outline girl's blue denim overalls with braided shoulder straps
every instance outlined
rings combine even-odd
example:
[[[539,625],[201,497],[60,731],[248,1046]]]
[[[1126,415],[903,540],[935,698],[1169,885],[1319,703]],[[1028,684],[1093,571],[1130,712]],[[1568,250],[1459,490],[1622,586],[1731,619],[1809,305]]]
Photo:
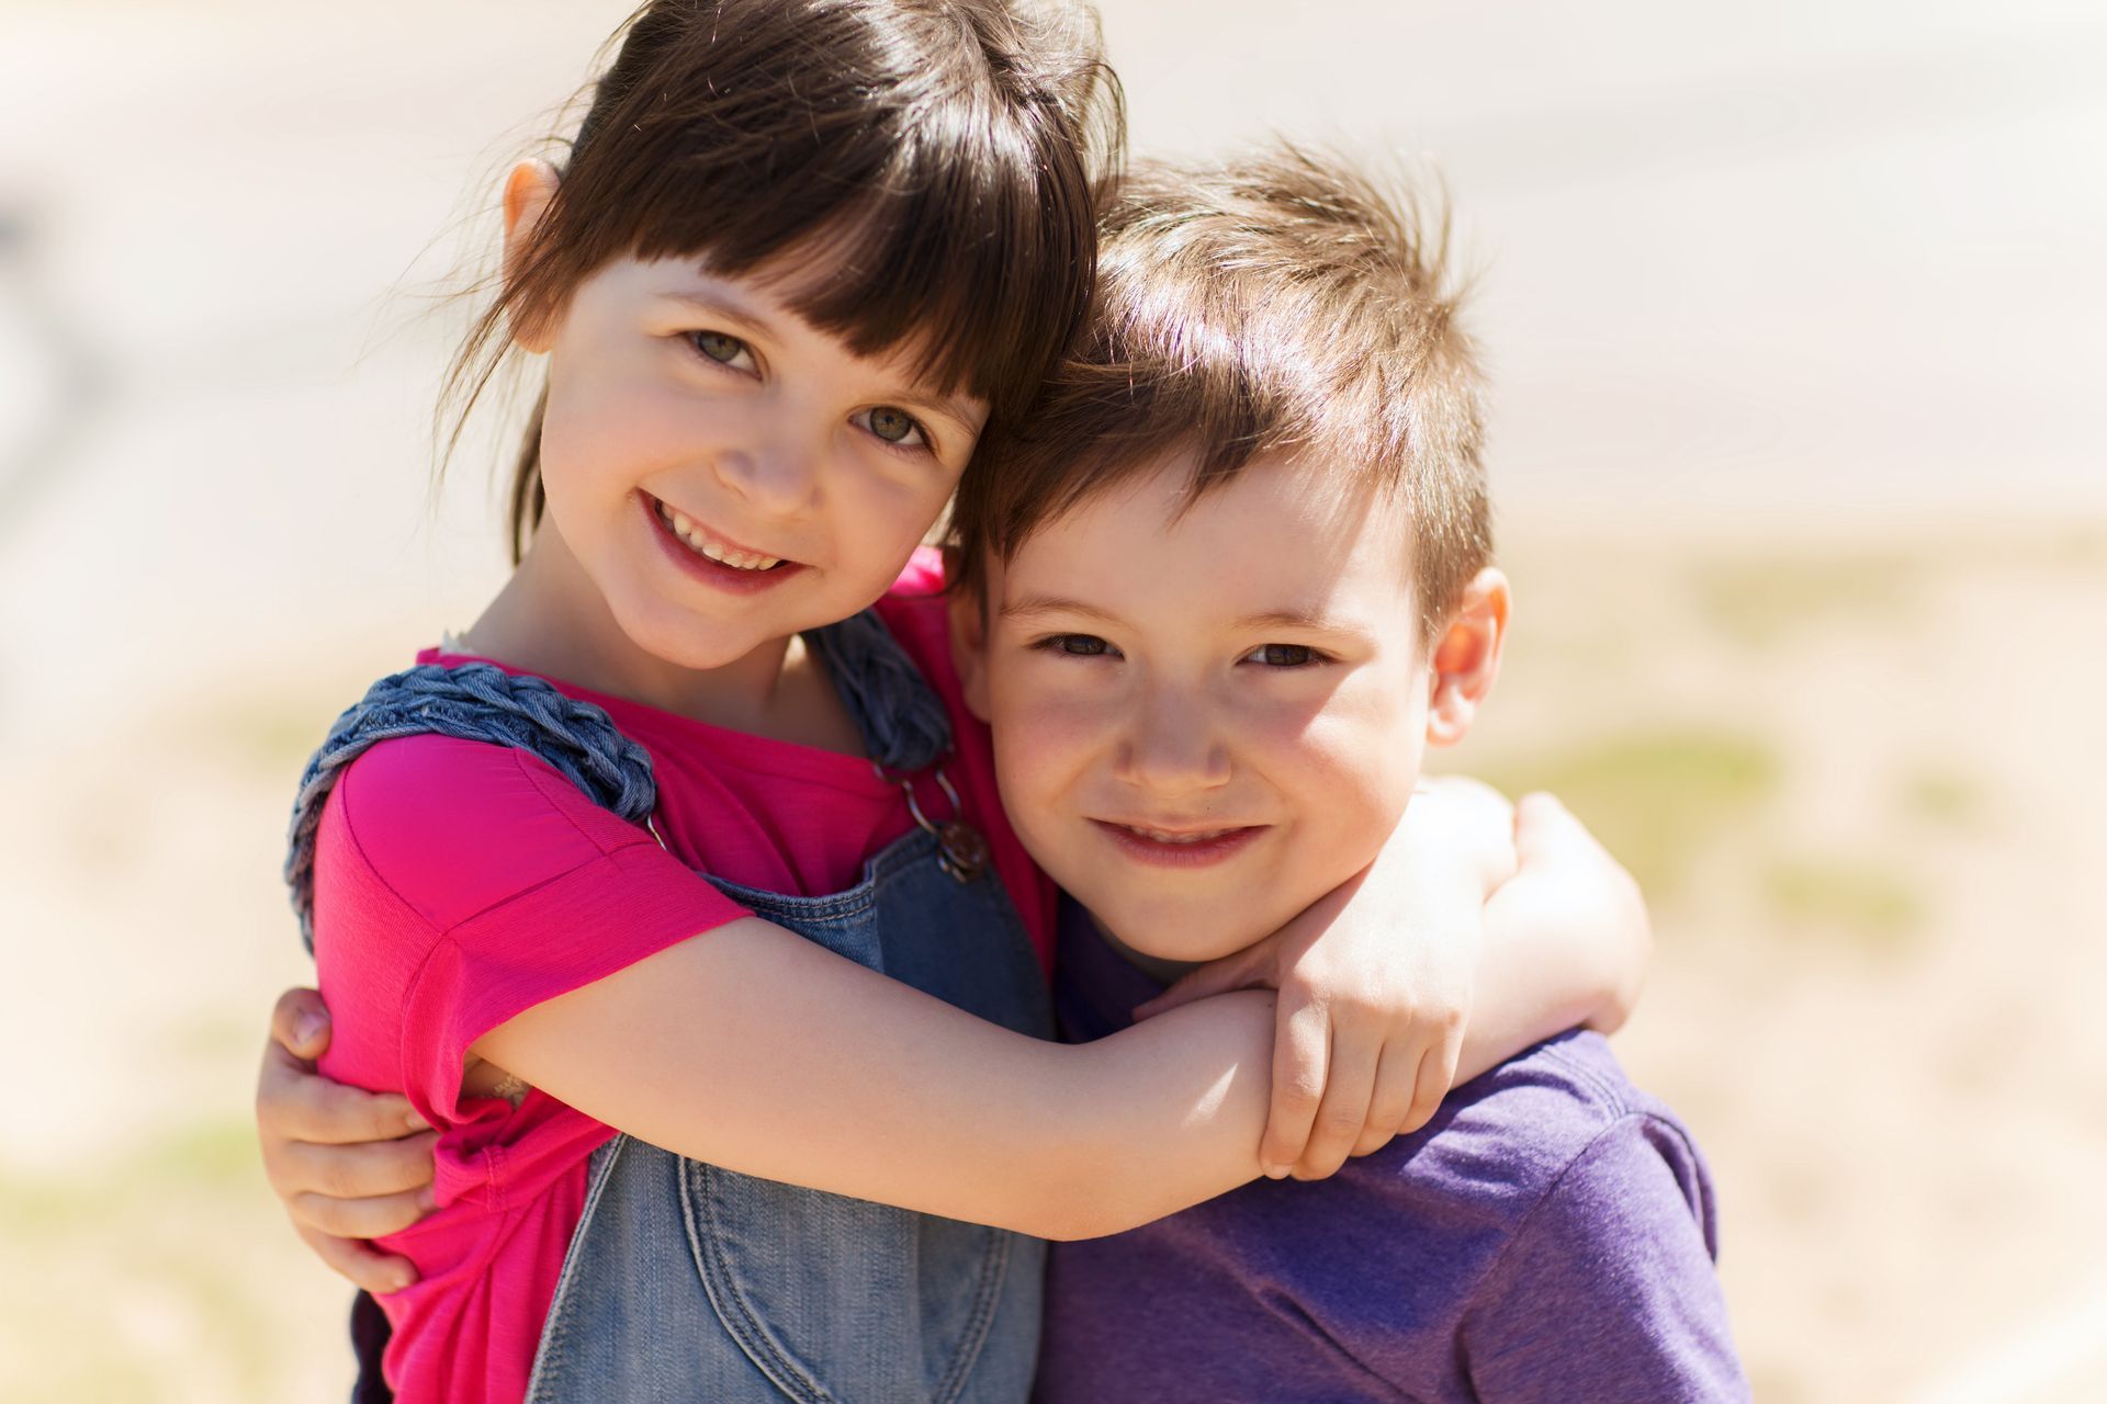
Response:
[[[807,640],[885,773],[923,770],[948,749],[942,703],[877,615]],[[421,728],[525,745],[598,802],[638,817],[651,794],[649,758],[605,714],[535,678],[489,667],[455,678],[464,671],[424,667],[375,684],[310,764],[287,863],[303,924],[320,802],[348,754],[377,739]],[[411,676],[438,701],[377,699]],[[464,701],[464,688],[495,688],[501,699]],[[942,770],[936,781],[950,796]],[[931,823],[910,781],[902,789],[917,827],[845,892],[786,897],[710,882],[858,964],[1054,1038],[1039,960],[986,848],[959,821]],[[1043,1263],[1035,1238],[754,1179],[615,1137],[592,1158],[527,1398],[1022,1402],[1039,1353]]]

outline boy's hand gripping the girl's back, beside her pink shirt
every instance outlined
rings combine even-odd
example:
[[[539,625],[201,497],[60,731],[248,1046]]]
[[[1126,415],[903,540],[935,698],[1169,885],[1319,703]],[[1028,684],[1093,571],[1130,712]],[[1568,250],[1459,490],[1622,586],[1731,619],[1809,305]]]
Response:
[[[417,1269],[362,1240],[396,1233],[432,1212],[438,1137],[405,1097],[362,1092],[316,1074],[314,1061],[327,1048],[322,996],[314,989],[278,996],[257,1076],[263,1175],[316,1257],[369,1292],[398,1292],[417,1280]]]

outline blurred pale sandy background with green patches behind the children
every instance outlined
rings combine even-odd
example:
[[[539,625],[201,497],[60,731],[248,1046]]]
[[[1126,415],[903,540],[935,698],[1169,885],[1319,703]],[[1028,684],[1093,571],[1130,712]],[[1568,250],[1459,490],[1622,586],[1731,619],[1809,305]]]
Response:
[[[261,1183],[297,768],[504,575],[430,495],[626,0],[0,4],[0,1396],[337,1400]],[[1104,0],[1140,152],[1439,166],[1517,627],[1452,764],[1646,882],[1757,1398],[2101,1398],[2107,15]]]

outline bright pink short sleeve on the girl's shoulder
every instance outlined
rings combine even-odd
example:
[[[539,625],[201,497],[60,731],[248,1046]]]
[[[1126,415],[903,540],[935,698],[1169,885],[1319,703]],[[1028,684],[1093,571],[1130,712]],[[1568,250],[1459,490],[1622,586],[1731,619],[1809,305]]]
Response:
[[[346,1034],[394,1036],[358,1080],[438,1126],[478,1038],[746,914],[537,756],[449,737],[360,756],[316,855],[322,991]]]

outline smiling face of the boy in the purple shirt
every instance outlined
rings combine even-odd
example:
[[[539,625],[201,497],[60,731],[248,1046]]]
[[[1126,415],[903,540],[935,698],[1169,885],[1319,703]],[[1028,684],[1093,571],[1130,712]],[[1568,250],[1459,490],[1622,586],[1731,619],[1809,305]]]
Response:
[[[1171,457],[990,562],[961,663],[1039,865],[1125,945],[1212,960],[1376,857],[1431,674],[1389,495],[1258,461],[1180,516],[1186,482]]]

